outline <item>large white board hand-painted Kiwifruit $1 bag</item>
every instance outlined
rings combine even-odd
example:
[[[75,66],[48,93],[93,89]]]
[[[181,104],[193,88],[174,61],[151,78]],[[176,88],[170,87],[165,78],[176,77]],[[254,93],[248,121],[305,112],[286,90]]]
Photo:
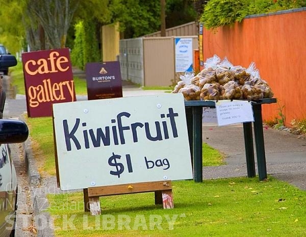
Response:
[[[53,104],[62,190],[192,179],[183,94]]]

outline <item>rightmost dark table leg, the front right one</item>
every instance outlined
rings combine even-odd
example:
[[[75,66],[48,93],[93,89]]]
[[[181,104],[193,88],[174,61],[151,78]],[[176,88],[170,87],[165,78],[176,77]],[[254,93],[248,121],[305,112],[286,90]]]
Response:
[[[259,180],[267,178],[266,154],[263,131],[263,118],[261,104],[253,104],[254,113],[254,137],[256,144],[257,165]]]

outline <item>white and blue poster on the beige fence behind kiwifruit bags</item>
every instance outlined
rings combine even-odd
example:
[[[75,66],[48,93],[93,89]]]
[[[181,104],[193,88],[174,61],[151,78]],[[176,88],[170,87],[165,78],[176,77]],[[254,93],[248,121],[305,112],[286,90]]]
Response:
[[[192,38],[175,38],[175,72],[193,71]]]

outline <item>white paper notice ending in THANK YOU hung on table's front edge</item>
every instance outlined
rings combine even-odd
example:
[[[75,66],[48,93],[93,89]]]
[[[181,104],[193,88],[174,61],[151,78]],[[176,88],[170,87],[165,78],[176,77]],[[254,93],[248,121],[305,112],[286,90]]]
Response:
[[[254,121],[251,102],[246,100],[219,100],[216,112],[219,126]]]

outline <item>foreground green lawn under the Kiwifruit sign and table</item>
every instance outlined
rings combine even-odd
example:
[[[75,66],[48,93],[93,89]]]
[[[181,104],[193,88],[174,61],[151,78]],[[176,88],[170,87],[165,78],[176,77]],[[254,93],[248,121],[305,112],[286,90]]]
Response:
[[[83,193],[48,195],[48,211],[59,215],[55,220],[59,228],[56,236],[297,237],[306,232],[306,193],[286,182],[269,177],[265,182],[258,178],[229,178],[172,184],[173,209],[154,205],[153,193],[109,196],[100,198],[102,215],[96,217],[84,213]],[[162,229],[150,229],[150,215],[162,218]],[[111,217],[114,228],[111,221],[107,222]],[[122,217],[131,219],[123,228]],[[172,230],[166,217],[177,217]],[[64,229],[69,218],[74,230]],[[85,227],[93,229],[83,227],[86,218]],[[135,221],[143,225],[133,229]],[[126,229],[129,227],[131,230]]]

